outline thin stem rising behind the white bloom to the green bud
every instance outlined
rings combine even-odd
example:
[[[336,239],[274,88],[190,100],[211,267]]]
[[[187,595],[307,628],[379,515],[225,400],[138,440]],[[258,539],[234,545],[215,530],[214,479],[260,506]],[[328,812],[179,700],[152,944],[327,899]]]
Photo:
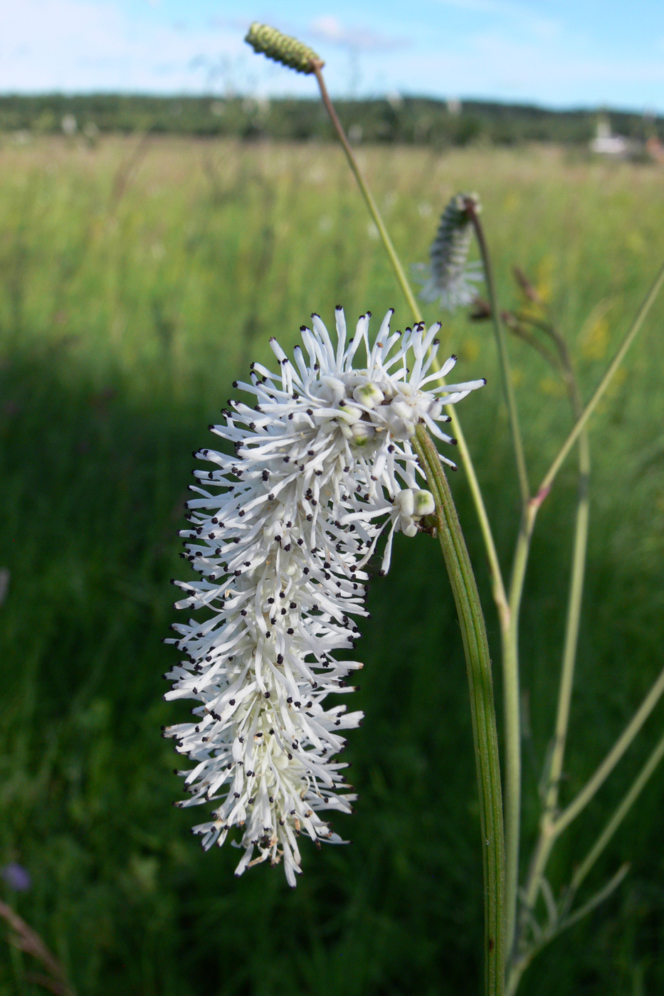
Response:
[[[369,186],[364,176],[362,175],[362,170],[360,169],[360,165],[355,157],[355,153],[353,152],[351,144],[348,141],[348,138],[346,137],[346,133],[343,129],[343,126],[339,121],[339,117],[335,111],[334,105],[330,100],[330,96],[327,92],[327,87],[325,86],[325,80],[323,79],[322,65],[320,63],[313,62],[312,66],[314,69],[316,80],[318,81],[318,86],[320,88],[320,95],[323,101],[323,105],[330,117],[330,121],[332,122],[335,131],[337,132],[337,136],[342,144],[344,152],[346,153],[348,164],[353,172],[353,175],[355,176],[355,179],[357,180],[358,186],[360,187],[362,195],[366,201],[367,207],[369,208],[369,213],[371,214],[371,217],[373,218],[374,223],[378,228],[379,235],[381,237],[383,245],[385,246],[385,250],[389,256],[399,286],[401,287],[404,297],[406,298],[408,307],[410,308],[413,314],[413,319],[416,322],[421,322],[422,312],[418,307],[415,295],[413,294],[413,290],[408,282],[408,277],[406,276],[404,268],[401,265],[401,261],[399,259],[399,256],[397,255],[397,251],[394,248],[394,245],[392,244],[392,239],[390,238],[389,232],[385,226],[385,222],[383,221],[381,213],[378,209],[378,205],[376,204],[376,201],[374,200],[371,190],[369,189]],[[438,364],[434,364],[433,369],[434,370],[439,369]],[[462,430],[461,422],[459,421],[459,416],[455,410],[455,407],[454,405],[449,404],[446,406],[445,410],[446,413],[450,416],[452,429],[459,444],[459,452],[461,454],[462,462],[464,464],[464,468],[466,470],[466,474],[468,477],[469,487],[471,489],[471,495],[473,497],[473,502],[476,507],[478,519],[480,520],[480,529],[482,531],[482,537],[485,542],[485,547],[487,551],[487,559],[489,562],[489,570],[492,579],[492,590],[494,594],[494,600],[498,608],[498,615],[500,616],[501,620],[504,620],[508,615],[507,598],[504,589],[504,583],[502,581],[502,574],[500,572],[496,543],[494,541],[492,527],[489,521],[489,516],[487,514],[487,508],[485,506],[484,498],[482,496],[480,482],[478,481],[478,475],[475,472],[475,466],[473,465],[471,451],[468,448],[468,443],[466,442],[466,436],[464,435],[464,432]]]

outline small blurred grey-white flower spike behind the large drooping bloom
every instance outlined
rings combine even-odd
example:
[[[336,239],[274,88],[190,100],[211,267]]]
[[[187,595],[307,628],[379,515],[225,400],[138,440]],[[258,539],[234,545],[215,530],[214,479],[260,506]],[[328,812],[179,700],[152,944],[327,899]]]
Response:
[[[420,297],[440,301],[448,311],[472,304],[478,294],[473,283],[483,279],[481,264],[468,262],[473,238],[469,203],[480,212],[477,194],[460,193],[452,198],[431,247],[431,264],[417,263],[414,267],[416,278],[424,284]]]

